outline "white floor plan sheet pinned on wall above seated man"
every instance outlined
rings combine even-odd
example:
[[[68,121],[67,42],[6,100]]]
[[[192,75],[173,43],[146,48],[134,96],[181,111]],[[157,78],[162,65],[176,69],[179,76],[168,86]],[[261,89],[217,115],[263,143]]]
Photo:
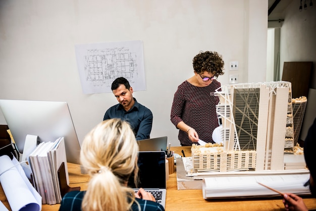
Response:
[[[118,77],[134,91],[146,90],[142,41],[78,44],[75,49],[83,93],[112,92]]]

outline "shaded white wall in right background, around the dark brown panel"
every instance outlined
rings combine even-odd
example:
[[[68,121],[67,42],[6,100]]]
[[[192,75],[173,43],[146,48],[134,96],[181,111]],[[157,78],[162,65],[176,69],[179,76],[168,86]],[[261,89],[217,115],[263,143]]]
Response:
[[[292,1],[284,11],[280,38],[280,71],[282,76],[284,62],[313,62],[300,135],[300,139],[305,140],[307,131],[316,118],[316,8],[310,8],[309,2],[306,10],[300,12],[298,8],[298,2]]]

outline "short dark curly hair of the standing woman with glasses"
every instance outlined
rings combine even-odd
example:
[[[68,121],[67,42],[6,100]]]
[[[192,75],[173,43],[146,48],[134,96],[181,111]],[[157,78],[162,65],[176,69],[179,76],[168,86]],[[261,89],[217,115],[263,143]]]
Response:
[[[197,74],[202,74],[206,71],[218,77],[224,74],[224,61],[218,52],[200,51],[199,54],[193,58],[193,69]]]

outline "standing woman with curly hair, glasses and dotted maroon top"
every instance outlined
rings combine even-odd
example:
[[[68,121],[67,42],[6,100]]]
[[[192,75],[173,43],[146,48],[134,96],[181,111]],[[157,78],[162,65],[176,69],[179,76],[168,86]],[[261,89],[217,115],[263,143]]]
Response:
[[[171,122],[179,129],[182,146],[197,144],[199,139],[214,143],[212,134],[219,126],[214,96],[221,83],[216,79],[223,75],[224,61],[215,51],[200,51],[193,58],[194,75],[178,86],[171,108]]]

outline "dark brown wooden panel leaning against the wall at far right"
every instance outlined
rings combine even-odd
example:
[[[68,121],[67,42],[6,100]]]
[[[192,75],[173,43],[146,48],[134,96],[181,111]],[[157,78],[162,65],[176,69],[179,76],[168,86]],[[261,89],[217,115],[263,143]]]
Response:
[[[292,98],[308,96],[311,68],[312,62],[284,63],[282,81],[292,83]]]

